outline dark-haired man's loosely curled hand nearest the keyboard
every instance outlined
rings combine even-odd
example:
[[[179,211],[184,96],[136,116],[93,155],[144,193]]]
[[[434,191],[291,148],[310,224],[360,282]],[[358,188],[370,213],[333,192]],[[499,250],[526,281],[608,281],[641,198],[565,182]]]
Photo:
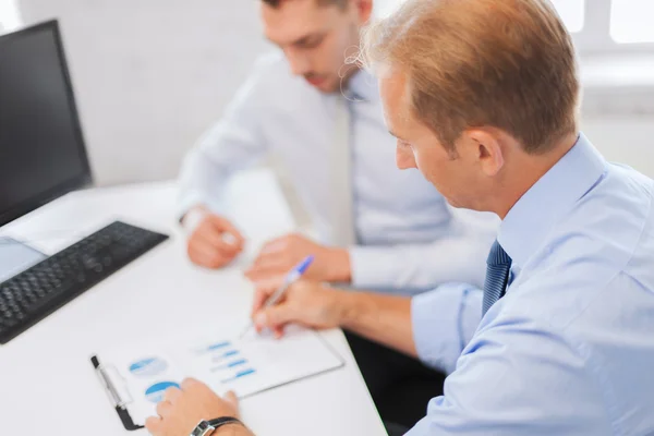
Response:
[[[241,232],[227,219],[205,213],[189,239],[189,257],[205,268],[220,268],[243,251]]]

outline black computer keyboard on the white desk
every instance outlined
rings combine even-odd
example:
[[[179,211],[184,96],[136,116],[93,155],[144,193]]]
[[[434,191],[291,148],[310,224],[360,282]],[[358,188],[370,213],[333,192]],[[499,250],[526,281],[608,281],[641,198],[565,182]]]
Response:
[[[116,221],[0,283],[0,343],[168,239]]]

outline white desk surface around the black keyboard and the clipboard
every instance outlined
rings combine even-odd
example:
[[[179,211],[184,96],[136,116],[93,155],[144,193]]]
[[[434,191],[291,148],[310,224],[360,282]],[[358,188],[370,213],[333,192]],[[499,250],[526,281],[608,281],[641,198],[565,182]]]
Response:
[[[253,292],[243,266],[264,240],[291,230],[293,220],[266,171],[242,177],[230,192],[230,209],[250,244],[244,258],[220,271],[186,259],[172,183],[73,193],[2,229],[48,254],[113,219],[171,240],[0,346],[0,435],[126,434],[92,368],[94,352],[180,331],[230,335],[242,328]],[[190,314],[202,320],[190,325]],[[244,400],[243,419],[258,436],[386,435],[342,332],[323,335],[346,367]]]

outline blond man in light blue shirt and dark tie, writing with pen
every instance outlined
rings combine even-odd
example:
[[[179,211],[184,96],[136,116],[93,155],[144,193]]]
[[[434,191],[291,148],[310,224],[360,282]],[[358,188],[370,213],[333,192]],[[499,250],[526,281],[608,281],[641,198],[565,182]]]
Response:
[[[399,166],[502,219],[483,292],[409,300],[302,282],[271,308],[259,291],[258,328],[342,326],[426,362],[448,356],[444,396],[410,436],[654,434],[654,182],[579,132],[574,50],[554,7],[409,0],[370,31],[364,55]],[[470,322],[440,307],[471,299],[483,302],[473,338],[437,335]],[[189,384],[148,422],[155,435],[235,413]],[[230,434],[250,433],[215,433]]]

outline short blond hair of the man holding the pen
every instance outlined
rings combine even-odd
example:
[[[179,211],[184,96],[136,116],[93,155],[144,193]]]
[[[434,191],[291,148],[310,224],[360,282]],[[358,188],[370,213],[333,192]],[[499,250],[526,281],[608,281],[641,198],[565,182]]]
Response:
[[[547,0],[408,0],[364,33],[360,60],[405,73],[414,114],[450,150],[475,126],[533,154],[578,129],[574,49]]]

